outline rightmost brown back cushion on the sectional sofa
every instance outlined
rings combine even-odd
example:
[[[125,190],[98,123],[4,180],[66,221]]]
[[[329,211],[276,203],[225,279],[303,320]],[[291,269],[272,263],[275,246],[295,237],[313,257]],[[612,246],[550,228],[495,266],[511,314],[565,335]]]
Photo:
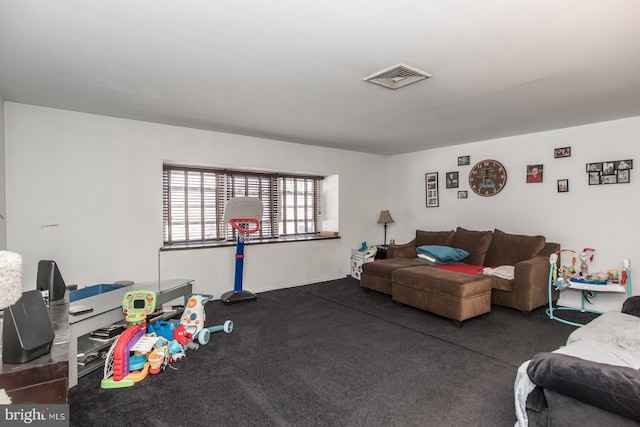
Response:
[[[516,265],[520,261],[533,258],[546,243],[544,236],[509,234],[497,228],[484,259],[484,265]]]

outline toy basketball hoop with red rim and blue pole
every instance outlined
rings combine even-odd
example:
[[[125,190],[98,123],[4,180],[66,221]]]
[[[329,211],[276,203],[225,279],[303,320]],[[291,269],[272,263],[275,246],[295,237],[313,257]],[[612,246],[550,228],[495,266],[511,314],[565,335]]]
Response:
[[[233,290],[225,292],[221,297],[226,304],[254,301],[258,298],[254,293],[242,289],[242,274],[244,241],[249,235],[260,231],[262,209],[262,201],[257,197],[234,197],[225,206],[224,222],[237,231],[235,283]]]

